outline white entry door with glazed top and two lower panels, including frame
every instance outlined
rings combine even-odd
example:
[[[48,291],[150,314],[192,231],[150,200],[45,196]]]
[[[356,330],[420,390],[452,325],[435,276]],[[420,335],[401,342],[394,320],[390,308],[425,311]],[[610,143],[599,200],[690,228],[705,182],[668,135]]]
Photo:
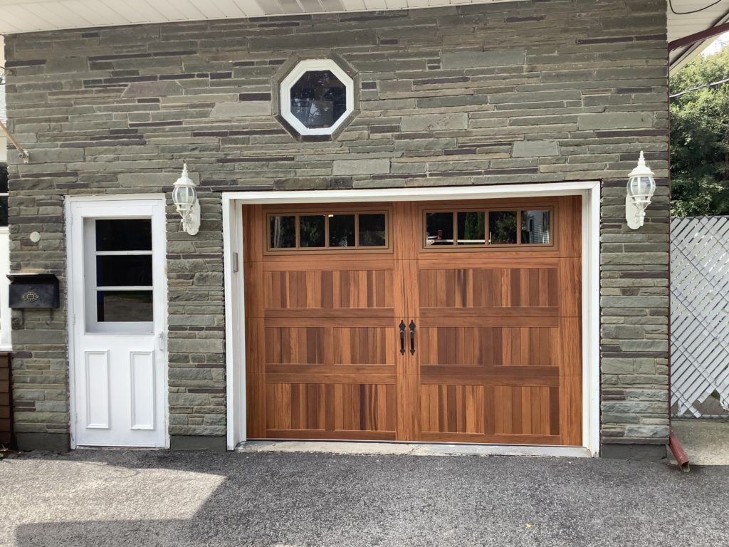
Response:
[[[72,201],[73,446],[168,444],[165,203]]]

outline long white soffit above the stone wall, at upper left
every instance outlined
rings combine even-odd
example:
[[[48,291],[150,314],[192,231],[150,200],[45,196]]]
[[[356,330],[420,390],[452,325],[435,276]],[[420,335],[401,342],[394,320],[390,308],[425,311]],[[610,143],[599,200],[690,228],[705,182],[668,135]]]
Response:
[[[0,0],[0,34],[514,0]]]

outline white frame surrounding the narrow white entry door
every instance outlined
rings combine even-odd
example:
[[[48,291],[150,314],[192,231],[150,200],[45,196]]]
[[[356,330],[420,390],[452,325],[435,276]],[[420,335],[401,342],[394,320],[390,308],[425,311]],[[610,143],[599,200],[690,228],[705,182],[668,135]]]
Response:
[[[68,355],[67,359],[69,362],[69,417],[71,420],[71,449],[77,448],[77,411],[76,411],[76,376],[74,373],[74,366],[72,363],[72,360],[74,359],[75,355],[75,346],[74,346],[74,324],[73,324],[73,314],[74,312],[77,314],[84,314],[85,310],[76,310],[74,305],[74,298],[72,293],[72,280],[74,279],[74,276],[84,276],[83,271],[83,261],[82,260],[71,260],[72,257],[83,257],[84,256],[84,249],[83,249],[83,241],[74,241],[73,238],[73,230],[71,230],[71,205],[73,203],[93,203],[93,202],[109,202],[109,201],[161,201],[163,203],[163,206],[166,205],[166,196],[164,194],[114,194],[114,195],[73,195],[73,196],[66,196],[66,203],[64,207],[64,212],[66,214],[65,222],[66,222],[66,330],[68,332],[68,340],[69,340],[69,349],[68,349]],[[166,221],[165,221],[166,222]],[[166,237],[165,237],[165,246],[166,246]],[[163,257],[166,256],[167,249],[163,249]],[[74,264],[75,263],[75,264]],[[166,259],[165,259],[166,264]],[[161,404],[164,405],[164,438],[165,438],[165,446],[160,448],[169,448],[170,446],[170,435],[169,435],[169,389],[168,389],[168,349],[167,349],[167,332],[168,332],[168,325],[167,325],[167,300],[168,300],[168,290],[167,290],[167,267],[165,265],[165,275],[163,276],[163,286],[162,290],[164,292],[164,298],[163,300],[163,317],[161,319],[162,322],[162,328],[163,333],[165,333],[165,345],[164,349],[161,350],[163,353],[163,400],[161,401]]]

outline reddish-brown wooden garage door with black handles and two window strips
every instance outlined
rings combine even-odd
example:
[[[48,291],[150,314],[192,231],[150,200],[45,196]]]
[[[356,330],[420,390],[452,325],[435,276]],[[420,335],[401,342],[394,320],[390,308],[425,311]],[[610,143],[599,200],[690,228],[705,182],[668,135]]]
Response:
[[[580,445],[580,210],[245,206],[249,438]]]

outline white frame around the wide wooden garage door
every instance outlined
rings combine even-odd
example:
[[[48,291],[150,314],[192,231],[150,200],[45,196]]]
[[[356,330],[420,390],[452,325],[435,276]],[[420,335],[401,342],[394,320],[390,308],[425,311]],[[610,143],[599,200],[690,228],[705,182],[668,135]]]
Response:
[[[243,329],[243,205],[358,203],[582,196],[582,448],[523,447],[524,454],[593,456],[600,451],[600,182],[526,185],[224,192],[225,371],[227,449],[246,441],[246,353]]]

